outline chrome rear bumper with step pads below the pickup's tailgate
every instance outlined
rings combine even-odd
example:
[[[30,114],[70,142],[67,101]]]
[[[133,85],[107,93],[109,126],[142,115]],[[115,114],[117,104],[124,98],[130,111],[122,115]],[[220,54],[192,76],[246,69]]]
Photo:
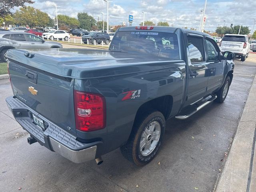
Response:
[[[16,121],[41,145],[74,163],[95,159],[97,145],[102,142],[85,144],[77,141],[75,136],[50,122],[16,97],[6,98],[6,103]],[[40,117],[47,124],[45,130],[34,124],[32,114]]]

